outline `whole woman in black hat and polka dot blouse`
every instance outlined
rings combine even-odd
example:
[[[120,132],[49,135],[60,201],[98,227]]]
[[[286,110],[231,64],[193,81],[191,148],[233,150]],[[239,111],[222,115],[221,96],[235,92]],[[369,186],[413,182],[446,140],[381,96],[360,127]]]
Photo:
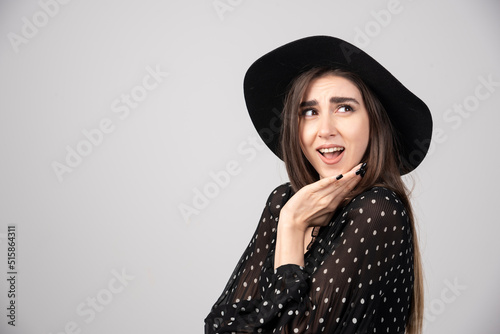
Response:
[[[420,253],[401,175],[426,154],[427,106],[327,36],[257,60],[245,99],[290,183],[269,196],[205,332],[421,333]]]

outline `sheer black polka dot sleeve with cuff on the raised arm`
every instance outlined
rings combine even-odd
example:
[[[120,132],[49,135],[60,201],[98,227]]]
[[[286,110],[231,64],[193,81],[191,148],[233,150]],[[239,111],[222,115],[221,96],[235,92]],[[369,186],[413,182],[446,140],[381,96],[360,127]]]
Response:
[[[284,184],[269,196],[248,247],[205,319],[205,333],[270,333],[290,318],[283,312],[304,303],[309,283],[303,268],[274,270],[279,212],[290,195],[290,185]]]

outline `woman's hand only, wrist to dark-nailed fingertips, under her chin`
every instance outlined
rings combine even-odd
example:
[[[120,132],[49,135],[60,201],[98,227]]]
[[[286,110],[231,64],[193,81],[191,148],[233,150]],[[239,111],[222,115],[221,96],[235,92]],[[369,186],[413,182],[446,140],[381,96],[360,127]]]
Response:
[[[361,180],[356,175],[360,167],[357,165],[341,179],[323,178],[297,191],[281,209],[280,225],[304,232],[311,226],[327,225],[338,205]]]

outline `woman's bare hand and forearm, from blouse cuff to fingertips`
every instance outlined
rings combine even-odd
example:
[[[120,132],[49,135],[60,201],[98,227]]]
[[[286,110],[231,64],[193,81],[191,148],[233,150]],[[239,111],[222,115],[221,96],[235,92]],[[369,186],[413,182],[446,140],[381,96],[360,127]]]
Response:
[[[311,226],[327,225],[338,205],[361,180],[361,164],[342,178],[335,176],[311,183],[295,193],[280,212],[274,268],[284,264],[304,266],[304,237]]]

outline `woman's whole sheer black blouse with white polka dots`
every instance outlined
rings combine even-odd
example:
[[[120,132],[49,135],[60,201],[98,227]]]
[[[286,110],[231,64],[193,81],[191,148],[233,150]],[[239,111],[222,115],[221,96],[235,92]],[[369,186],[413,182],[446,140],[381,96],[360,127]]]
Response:
[[[404,333],[413,243],[397,195],[375,187],[357,196],[320,229],[304,267],[275,270],[279,213],[292,195],[287,183],[269,196],[205,333]]]

